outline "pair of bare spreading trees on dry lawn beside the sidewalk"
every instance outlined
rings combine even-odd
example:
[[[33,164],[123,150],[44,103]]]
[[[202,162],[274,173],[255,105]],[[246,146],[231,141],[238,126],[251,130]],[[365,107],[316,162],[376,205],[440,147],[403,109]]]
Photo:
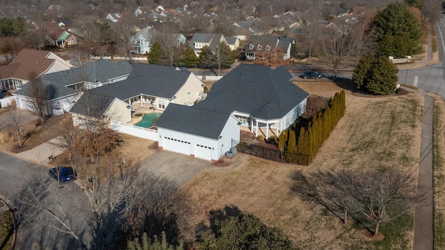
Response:
[[[294,172],[292,192],[317,203],[347,222],[348,216],[360,224],[379,226],[408,213],[423,200],[416,178],[398,169],[357,172]],[[344,217],[342,217],[342,214]]]

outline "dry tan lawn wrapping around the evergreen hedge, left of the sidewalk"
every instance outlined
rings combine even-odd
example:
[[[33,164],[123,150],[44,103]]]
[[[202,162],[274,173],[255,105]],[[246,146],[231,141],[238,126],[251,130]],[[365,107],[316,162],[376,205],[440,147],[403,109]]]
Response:
[[[311,94],[332,97],[333,83],[298,83]],[[182,191],[190,197],[192,224],[207,223],[210,210],[225,205],[252,213],[280,228],[301,249],[369,249],[361,229],[344,226],[323,209],[289,193],[289,174],[338,168],[418,167],[423,97],[417,94],[368,98],[346,92],[346,114],[309,167],[250,157],[227,172],[207,169]],[[410,245],[412,235],[405,239]],[[397,248],[397,247],[395,247]],[[400,247],[399,247],[400,248]]]

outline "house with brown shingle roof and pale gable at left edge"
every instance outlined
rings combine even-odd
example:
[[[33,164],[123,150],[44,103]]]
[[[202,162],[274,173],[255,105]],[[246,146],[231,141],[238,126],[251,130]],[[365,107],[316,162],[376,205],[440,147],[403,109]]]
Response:
[[[0,90],[17,89],[37,76],[74,68],[73,65],[49,51],[22,49],[8,65],[0,66]]]

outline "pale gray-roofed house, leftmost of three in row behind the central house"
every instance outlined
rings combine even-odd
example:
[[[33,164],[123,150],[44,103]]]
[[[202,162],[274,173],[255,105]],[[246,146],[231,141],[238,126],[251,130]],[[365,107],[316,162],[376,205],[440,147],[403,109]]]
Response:
[[[154,28],[147,27],[131,36],[131,51],[138,54],[149,53],[154,43],[153,41],[156,39],[156,35],[174,35],[177,40],[177,45],[184,44],[186,42],[186,37],[182,34],[159,33],[159,31],[156,31]]]

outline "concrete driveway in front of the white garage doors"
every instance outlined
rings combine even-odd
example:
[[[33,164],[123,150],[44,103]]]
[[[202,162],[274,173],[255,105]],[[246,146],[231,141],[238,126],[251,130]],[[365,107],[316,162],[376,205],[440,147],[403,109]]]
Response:
[[[175,181],[179,187],[182,187],[207,167],[211,167],[210,160],[202,160],[182,153],[160,150],[143,160],[138,171],[153,172]]]

